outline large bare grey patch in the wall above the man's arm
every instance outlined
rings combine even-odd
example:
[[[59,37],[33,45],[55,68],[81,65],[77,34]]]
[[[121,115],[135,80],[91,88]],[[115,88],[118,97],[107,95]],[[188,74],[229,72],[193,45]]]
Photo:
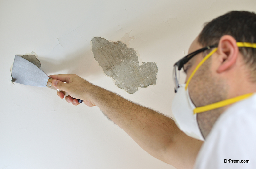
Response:
[[[110,42],[95,37],[92,39],[92,52],[104,73],[116,80],[115,84],[126,92],[133,94],[139,87],[156,84],[156,63],[142,62],[139,65],[134,49],[121,41]]]

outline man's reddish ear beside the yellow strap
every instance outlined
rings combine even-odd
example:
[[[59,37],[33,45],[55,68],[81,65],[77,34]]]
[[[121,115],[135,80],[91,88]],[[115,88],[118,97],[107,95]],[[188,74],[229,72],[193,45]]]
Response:
[[[230,35],[224,35],[220,38],[217,53],[220,55],[221,64],[217,72],[222,73],[233,66],[238,57],[239,49],[236,40]]]

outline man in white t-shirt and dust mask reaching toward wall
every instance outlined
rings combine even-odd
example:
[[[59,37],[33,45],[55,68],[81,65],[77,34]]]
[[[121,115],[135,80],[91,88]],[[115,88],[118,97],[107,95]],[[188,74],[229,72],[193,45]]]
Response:
[[[176,168],[256,168],[255,43],[255,13],[232,11],[206,24],[191,54],[174,65],[172,112],[181,130],[171,118],[77,75],[50,77],[70,94],[67,102],[98,106],[145,151]],[[175,76],[181,68],[187,74],[183,85]]]

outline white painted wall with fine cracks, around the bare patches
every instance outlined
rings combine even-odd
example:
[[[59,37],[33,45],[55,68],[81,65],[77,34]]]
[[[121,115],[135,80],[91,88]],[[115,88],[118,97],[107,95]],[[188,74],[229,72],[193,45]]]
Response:
[[[125,98],[172,115],[172,65],[206,21],[255,0],[0,0],[0,168],[174,168],[142,150],[97,107],[73,106],[48,88],[11,83],[15,54],[34,51],[47,74],[75,73]],[[130,33],[129,33],[130,32]],[[156,85],[127,94],[94,60],[95,36],[126,33]]]

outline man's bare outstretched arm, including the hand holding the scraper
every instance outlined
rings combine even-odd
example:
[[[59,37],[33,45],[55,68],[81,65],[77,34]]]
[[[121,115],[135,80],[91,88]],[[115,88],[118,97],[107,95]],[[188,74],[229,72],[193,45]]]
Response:
[[[98,106],[152,156],[176,168],[193,167],[203,142],[185,135],[171,118],[92,85],[77,75],[50,77],[58,79],[57,85],[54,85],[55,80],[52,82],[56,88],[68,92],[73,98],[84,100],[87,106]],[[61,92],[58,96],[64,98]],[[66,100],[77,105],[77,99],[70,96]]]

